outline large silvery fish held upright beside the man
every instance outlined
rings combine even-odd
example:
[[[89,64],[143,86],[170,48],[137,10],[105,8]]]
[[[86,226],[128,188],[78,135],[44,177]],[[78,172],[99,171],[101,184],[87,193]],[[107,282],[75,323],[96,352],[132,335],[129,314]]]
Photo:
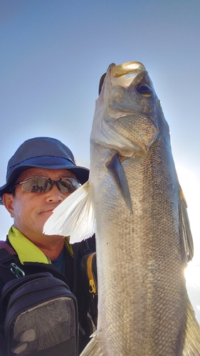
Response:
[[[81,227],[74,216],[83,218]],[[81,355],[199,356],[184,279],[193,253],[186,202],[169,126],[142,63],[108,68],[90,136],[89,181],[56,208],[46,231],[77,241],[81,229],[84,237],[93,231],[93,219],[98,328]]]

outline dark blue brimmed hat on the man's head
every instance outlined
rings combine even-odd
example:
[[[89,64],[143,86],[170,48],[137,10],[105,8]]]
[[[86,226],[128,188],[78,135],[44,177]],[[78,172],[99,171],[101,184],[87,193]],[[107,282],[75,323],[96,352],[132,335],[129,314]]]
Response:
[[[89,177],[89,169],[77,166],[73,153],[62,142],[51,137],[34,137],[23,142],[9,159],[6,184],[0,187],[0,204],[3,204],[3,194],[11,192],[10,188],[19,174],[33,167],[70,169],[81,184]]]

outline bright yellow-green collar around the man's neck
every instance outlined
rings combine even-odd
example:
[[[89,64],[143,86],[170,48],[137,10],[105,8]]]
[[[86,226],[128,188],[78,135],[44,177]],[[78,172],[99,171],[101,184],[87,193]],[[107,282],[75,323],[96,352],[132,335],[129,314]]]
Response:
[[[11,229],[9,230],[9,241],[18,254],[21,264],[24,262],[51,263],[51,260],[46,257],[40,248],[28,240],[26,236],[21,234],[21,232],[14,226],[11,226]],[[68,238],[65,239],[65,246],[73,256],[73,249],[68,242]]]

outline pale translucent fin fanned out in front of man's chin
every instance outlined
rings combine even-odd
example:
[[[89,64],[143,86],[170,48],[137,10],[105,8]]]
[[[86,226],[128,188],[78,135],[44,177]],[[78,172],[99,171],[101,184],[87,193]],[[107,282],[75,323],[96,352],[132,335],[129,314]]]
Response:
[[[70,244],[95,232],[93,189],[86,182],[53,210],[43,227],[47,235],[70,236]]]

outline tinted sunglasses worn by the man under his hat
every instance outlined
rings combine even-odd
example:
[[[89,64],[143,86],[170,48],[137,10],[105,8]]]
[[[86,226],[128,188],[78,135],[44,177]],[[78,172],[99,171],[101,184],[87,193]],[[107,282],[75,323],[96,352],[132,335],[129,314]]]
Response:
[[[23,182],[15,184],[11,189],[11,192],[19,184],[22,184],[24,192],[29,193],[46,193],[53,187],[53,184],[56,184],[58,189],[63,193],[73,193],[81,186],[78,179],[75,178],[60,178],[59,180],[53,180],[46,177],[30,177]]]

